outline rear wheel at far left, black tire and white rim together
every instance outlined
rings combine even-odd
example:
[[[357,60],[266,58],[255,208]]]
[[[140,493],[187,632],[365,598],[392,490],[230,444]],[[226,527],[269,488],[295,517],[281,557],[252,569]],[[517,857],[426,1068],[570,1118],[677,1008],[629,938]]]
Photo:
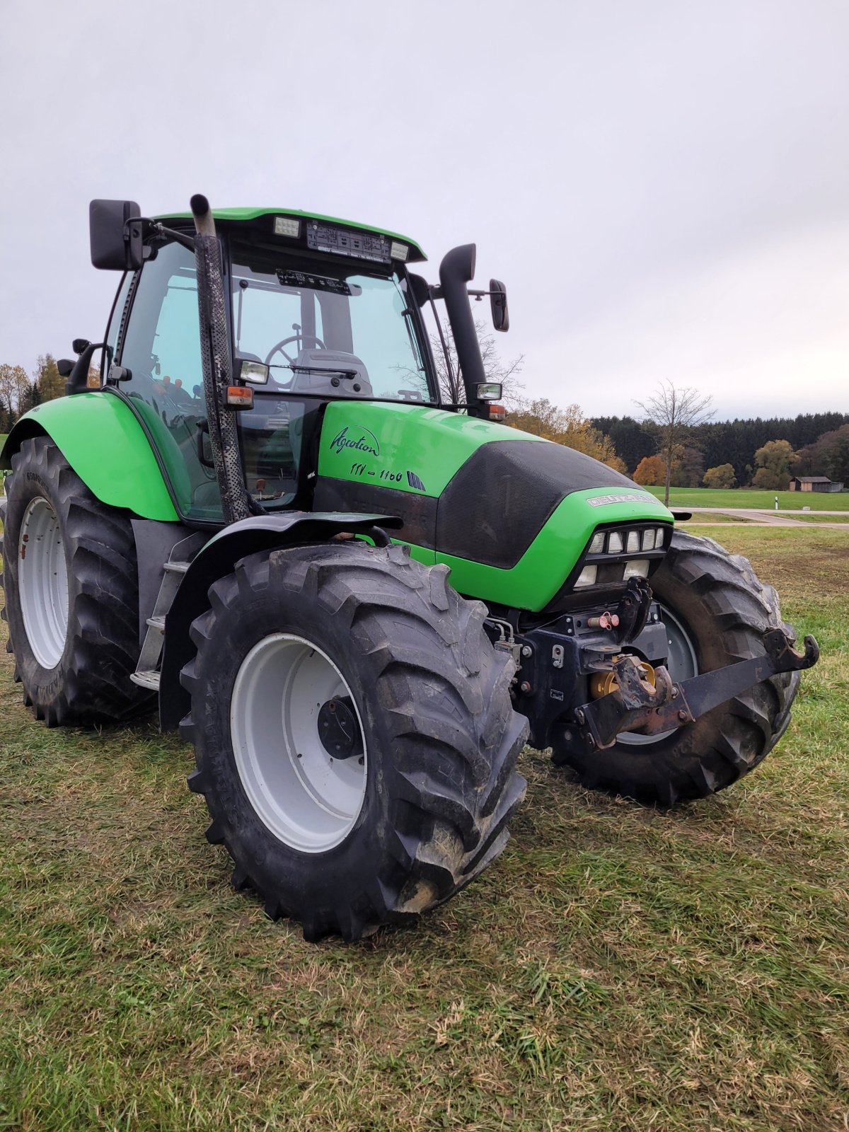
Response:
[[[48,727],[110,723],[152,700],[139,654],[136,547],[44,436],[11,457],[2,506],[3,618],[24,703]]]

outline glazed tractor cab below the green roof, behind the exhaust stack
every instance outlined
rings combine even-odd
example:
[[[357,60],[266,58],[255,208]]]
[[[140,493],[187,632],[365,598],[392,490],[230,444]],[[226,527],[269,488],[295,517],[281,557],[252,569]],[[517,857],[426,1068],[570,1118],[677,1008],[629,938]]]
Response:
[[[265,509],[306,505],[324,408],[335,400],[432,405],[439,394],[408,273],[409,241],[307,216],[234,211],[218,224],[246,488]],[[151,224],[143,263],[119,288],[106,386],[158,453],[177,509],[224,520],[204,396],[195,255],[188,228]]]

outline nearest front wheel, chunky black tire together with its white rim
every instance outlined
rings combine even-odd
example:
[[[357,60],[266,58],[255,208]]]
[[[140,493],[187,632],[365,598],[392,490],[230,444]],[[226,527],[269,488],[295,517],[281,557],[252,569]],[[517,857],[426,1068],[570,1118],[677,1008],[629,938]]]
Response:
[[[307,940],[410,919],[507,841],[528,734],[514,663],[447,578],[402,547],[251,555],[192,625],[182,731],[207,840]]]

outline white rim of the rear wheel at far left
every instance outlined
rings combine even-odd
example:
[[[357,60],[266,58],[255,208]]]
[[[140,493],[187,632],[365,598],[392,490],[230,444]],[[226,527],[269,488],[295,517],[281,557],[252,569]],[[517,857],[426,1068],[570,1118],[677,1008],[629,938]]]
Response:
[[[20,524],[18,595],[33,655],[42,668],[55,668],[68,636],[68,566],[59,518],[41,496]]]

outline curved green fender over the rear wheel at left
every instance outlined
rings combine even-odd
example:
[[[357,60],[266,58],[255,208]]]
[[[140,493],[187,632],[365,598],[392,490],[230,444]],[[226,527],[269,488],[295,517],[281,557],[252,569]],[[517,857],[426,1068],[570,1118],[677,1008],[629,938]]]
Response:
[[[88,490],[140,518],[178,515],[149,441],[120,397],[93,391],[59,397],[25,413],[9,434],[0,464],[9,468],[20,439],[46,432]]]

